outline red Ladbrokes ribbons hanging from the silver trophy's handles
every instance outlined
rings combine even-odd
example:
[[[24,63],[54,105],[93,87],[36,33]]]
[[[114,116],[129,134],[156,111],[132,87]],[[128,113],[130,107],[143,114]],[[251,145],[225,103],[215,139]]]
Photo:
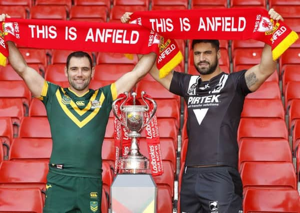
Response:
[[[117,98],[125,98],[126,96],[124,94],[118,95]],[[144,97],[148,97],[151,99],[151,97],[147,94],[144,94]],[[153,111],[153,104],[152,102],[148,101],[147,99],[144,99],[146,103],[149,106],[149,111],[145,112],[144,122],[148,120],[150,115]],[[117,101],[115,103],[115,112],[119,118],[121,118],[121,111],[120,111],[120,104],[124,101],[124,99],[121,99],[120,101]],[[128,97],[126,100],[126,103],[124,105],[132,105],[132,97]],[[159,142],[159,132],[158,132],[158,126],[157,126],[157,119],[156,115],[154,114],[151,118],[150,122],[144,127],[145,135],[146,135],[146,142],[147,142],[147,148],[148,148],[148,154],[149,154],[149,166],[151,169],[152,176],[159,176],[163,173],[162,168],[162,157],[161,157],[161,150],[160,150],[160,142]],[[120,121],[114,117],[114,142],[115,142],[115,167],[114,171],[115,173],[119,169],[119,162],[118,159],[121,156],[125,156],[129,153],[130,145],[131,145],[131,139],[128,138],[128,133],[126,129],[121,125]]]

